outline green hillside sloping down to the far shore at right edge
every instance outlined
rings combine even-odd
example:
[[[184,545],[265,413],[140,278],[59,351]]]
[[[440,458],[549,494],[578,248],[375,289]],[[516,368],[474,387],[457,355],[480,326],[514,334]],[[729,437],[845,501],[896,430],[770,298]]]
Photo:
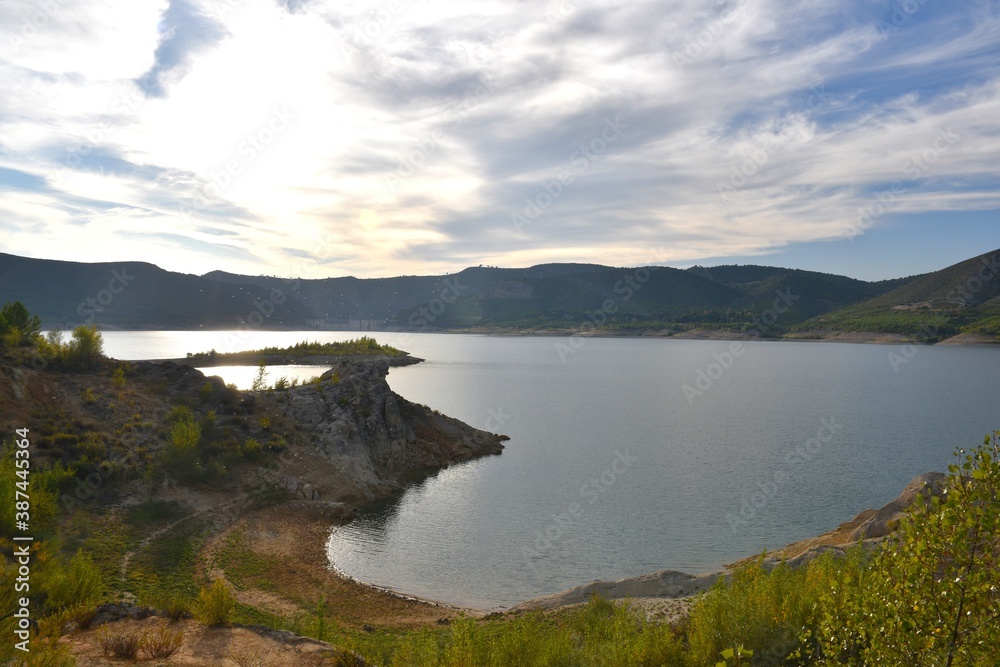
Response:
[[[878,297],[819,315],[802,328],[907,333],[929,340],[1000,335],[1000,250],[959,262]]]

